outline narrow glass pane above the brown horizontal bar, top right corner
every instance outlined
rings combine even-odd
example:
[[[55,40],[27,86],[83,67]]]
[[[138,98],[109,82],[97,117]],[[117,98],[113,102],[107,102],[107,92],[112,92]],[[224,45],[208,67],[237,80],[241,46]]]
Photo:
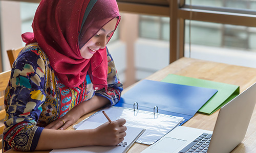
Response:
[[[190,5],[190,1],[186,1],[186,5]],[[256,1],[252,0],[191,0],[191,5],[200,5],[208,7],[227,7],[237,9],[256,9]]]

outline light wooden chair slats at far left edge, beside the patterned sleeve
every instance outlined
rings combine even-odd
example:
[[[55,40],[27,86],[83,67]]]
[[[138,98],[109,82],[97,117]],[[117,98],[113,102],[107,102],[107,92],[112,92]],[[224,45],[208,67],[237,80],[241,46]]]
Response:
[[[3,121],[5,119],[5,109],[4,109],[4,92],[5,88],[7,87],[7,84],[9,82],[9,78],[11,75],[11,70],[1,72],[0,73],[0,120]],[[5,125],[3,122],[0,123],[0,135],[3,135],[5,129]],[[2,139],[0,140],[0,149],[2,149]],[[2,152],[2,151],[1,151]]]

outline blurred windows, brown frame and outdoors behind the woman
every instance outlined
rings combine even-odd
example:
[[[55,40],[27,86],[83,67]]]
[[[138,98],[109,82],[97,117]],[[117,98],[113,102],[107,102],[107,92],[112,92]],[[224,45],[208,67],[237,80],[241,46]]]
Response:
[[[256,68],[256,1],[130,0],[118,5],[121,22],[108,47],[124,87],[183,56]],[[37,6],[38,1],[0,1],[2,71],[11,68],[6,50],[25,45],[20,35],[32,32]]]

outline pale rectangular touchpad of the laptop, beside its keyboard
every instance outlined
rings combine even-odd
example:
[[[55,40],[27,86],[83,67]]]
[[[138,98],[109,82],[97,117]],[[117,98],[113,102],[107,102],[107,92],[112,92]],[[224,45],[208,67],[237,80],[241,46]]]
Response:
[[[168,152],[173,152],[186,142],[186,140],[165,137],[164,139],[161,140],[161,142],[158,141],[153,147],[151,147],[151,149],[164,152],[168,150]]]

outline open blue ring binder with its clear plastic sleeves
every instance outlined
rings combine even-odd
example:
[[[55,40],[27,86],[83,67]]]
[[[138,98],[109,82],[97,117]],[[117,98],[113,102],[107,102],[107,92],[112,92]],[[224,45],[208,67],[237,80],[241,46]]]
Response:
[[[124,93],[115,106],[103,110],[112,120],[124,118],[126,126],[146,129],[136,142],[151,145],[193,117],[217,91],[142,80]],[[106,118],[102,118],[102,113],[96,112],[84,120],[86,121],[104,123]],[[79,125],[74,125],[74,129]]]

